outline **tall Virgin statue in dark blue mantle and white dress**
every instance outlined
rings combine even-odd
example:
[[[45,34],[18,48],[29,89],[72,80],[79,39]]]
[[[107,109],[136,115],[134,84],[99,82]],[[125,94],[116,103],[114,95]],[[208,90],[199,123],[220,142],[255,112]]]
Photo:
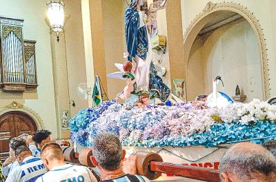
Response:
[[[170,89],[157,75],[152,63],[150,34],[146,28],[152,22],[146,22],[147,12],[146,0],[132,0],[126,9],[126,45],[130,54],[128,61],[134,60],[137,64],[135,70],[137,90],[155,91],[156,96],[164,102],[170,95]]]

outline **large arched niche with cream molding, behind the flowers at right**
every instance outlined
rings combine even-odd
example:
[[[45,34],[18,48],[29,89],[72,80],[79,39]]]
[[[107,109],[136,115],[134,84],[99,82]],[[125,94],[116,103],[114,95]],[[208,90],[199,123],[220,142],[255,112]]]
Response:
[[[224,34],[222,30],[220,33],[219,31],[216,31],[217,30],[216,28],[220,27],[221,23],[223,23],[223,25],[226,25],[225,22],[233,18],[235,18],[236,20],[235,23],[230,23],[230,26],[228,27],[224,26],[224,30],[225,32],[227,32],[226,34]],[[210,30],[210,28],[213,28],[212,29],[213,31]],[[237,30],[239,29],[241,31],[237,32]],[[230,34],[231,31],[234,32],[235,34],[235,37],[233,37],[233,39],[231,37],[233,34]],[[244,33],[241,33],[242,31],[244,31]],[[251,42],[248,42],[248,37],[246,37],[248,35],[250,36]],[[239,40],[237,41],[235,40],[238,36],[241,39],[245,39],[244,46],[242,44],[240,45],[240,48],[232,46],[233,50],[235,51],[230,52],[230,49],[229,49],[230,43],[232,43],[232,45],[235,45],[235,43],[241,42]],[[231,37],[231,39],[229,39],[229,37]],[[207,43],[206,43],[206,40],[207,40]],[[218,45],[221,42],[222,44]],[[206,48],[201,50],[201,47],[202,47],[201,45],[205,45]],[[248,45],[247,49],[250,50],[248,51],[247,55],[246,55],[246,49],[245,49],[246,45]],[[254,45],[254,48],[250,47],[251,45]],[[215,50],[215,47],[221,48],[221,50],[217,51]],[[199,51],[201,51],[202,54],[204,54],[205,61],[204,59],[201,59],[201,57],[195,57],[198,55],[197,52]],[[242,55],[244,58],[239,57],[239,54],[236,53],[237,51],[238,52],[244,51],[244,54]],[[221,55],[218,56],[217,52],[219,52],[219,54]],[[252,57],[252,55],[249,54],[250,52],[255,54],[255,57]],[[223,53],[227,53],[227,54],[223,54]],[[213,75],[211,75],[212,73],[214,74],[215,72],[216,74],[220,74],[219,71],[217,70],[219,70],[221,67],[224,66],[222,63],[226,63],[225,62],[227,61],[226,59],[229,59],[229,60],[233,59],[239,64],[237,65],[237,63],[230,62],[228,60],[228,63],[227,63],[228,67],[226,67],[228,70],[224,68],[224,70],[226,71],[221,71],[221,72],[227,73],[229,72],[229,70],[232,69],[233,65],[237,65],[236,68],[232,69],[232,70],[234,69],[237,70],[235,71],[235,73],[229,72],[229,76],[227,78],[229,80],[228,82],[232,81],[233,84],[234,82],[239,83],[240,80],[246,78],[248,79],[248,81],[246,81],[245,83],[239,83],[239,84],[244,84],[243,86],[246,87],[245,90],[247,90],[248,92],[245,94],[248,94],[248,95],[250,94],[250,97],[255,97],[255,94],[251,94],[251,92],[257,90],[257,93],[259,94],[255,98],[268,99],[270,97],[268,59],[266,54],[266,42],[264,39],[264,34],[262,32],[261,26],[259,25],[259,22],[254,17],[253,13],[251,13],[247,8],[245,8],[244,6],[241,6],[240,4],[232,3],[232,2],[223,2],[223,3],[209,2],[206,5],[206,8],[204,8],[204,10],[192,21],[192,23],[190,23],[190,26],[186,30],[186,33],[184,35],[184,57],[185,57],[184,68],[186,72],[186,81],[187,83],[190,82],[190,85],[192,85],[192,86],[189,86],[189,84],[187,84],[188,100],[194,99],[194,96],[189,93],[195,93],[199,91],[198,87],[193,88],[192,83],[198,83],[198,82],[201,83],[199,84],[200,85],[199,88],[201,90],[205,90],[205,92],[200,94],[210,93],[210,85],[206,86],[206,83],[211,82],[210,77],[213,77]],[[191,60],[191,57],[193,60],[196,60],[198,63],[193,62],[193,60]],[[239,59],[241,59],[244,62],[240,63]],[[250,64],[248,65],[247,64],[244,65],[244,63],[246,63],[246,61],[248,60],[253,60],[253,62],[250,62]],[[217,64],[215,65],[214,63],[217,63]],[[201,68],[197,66],[198,64],[201,64]],[[240,68],[244,66],[247,66],[247,68],[241,71]],[[206,70],[210,72],[203,73],[203,72],[206,72]],[[246,76],[244,76],[244,74],[240,74],[241,72],[244,73],[244,71],[249,73],[246,74]],[[199,77],[197,73],[202,74],[202,77]],[[250,77],[250,74],[253,74],[253,76],[256,77],[256,79],[255,78],[252,79]],[[206,75],[209,77],[207,78]],[[233,76],[237,76],[239,77],[239,79]],[[192,80],[189,81],[190,78],[192,78]],[[253,85],[254,83],[255,83],[255,86]],[[230,88],[231,92],[235,92],[235,85],[233,86],[233,84],[231,84],[231,88]],[[257,88],[257,86],[259,88]],[[250,89],[251,87],[255,89]],[[189,88],[192,90],[188,90]],[[227,91],[227,90],[222,90],[222,91]],[[248,99],[250,100],[250,98]]]

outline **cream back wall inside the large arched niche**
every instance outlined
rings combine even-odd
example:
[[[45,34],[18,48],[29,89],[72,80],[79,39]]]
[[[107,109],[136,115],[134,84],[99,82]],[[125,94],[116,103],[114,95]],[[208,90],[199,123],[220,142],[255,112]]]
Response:
[[[219,90],[234,96],[238,84],[247,101],[264,99],[262,62],[257,37],[250,24],[245,20],[238,21],[205,36],[202,59],[205,63],[206,93],[212,92],[212,79],[220,75],[224,87],[219,84]]]

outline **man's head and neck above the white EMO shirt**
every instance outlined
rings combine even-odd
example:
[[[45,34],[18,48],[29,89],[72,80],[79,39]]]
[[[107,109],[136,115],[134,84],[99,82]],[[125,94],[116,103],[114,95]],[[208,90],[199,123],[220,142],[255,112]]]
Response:
[[[64,163],[61,147],[57,143],[45,144],[40,155],[47,170],[52,170],[56,164]]]

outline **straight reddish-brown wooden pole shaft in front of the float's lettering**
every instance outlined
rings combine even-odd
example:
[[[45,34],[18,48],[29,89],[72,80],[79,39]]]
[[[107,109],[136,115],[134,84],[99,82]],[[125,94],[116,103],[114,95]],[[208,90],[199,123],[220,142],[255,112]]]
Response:
[[[172,163],[150,162],[150,170],[154,172],[162,172],[165,174],[173,174],[188,179],[197,179],[201,181],[219,182],[219,172],[208,168],[198,168],[188,165],[175,165]]]

